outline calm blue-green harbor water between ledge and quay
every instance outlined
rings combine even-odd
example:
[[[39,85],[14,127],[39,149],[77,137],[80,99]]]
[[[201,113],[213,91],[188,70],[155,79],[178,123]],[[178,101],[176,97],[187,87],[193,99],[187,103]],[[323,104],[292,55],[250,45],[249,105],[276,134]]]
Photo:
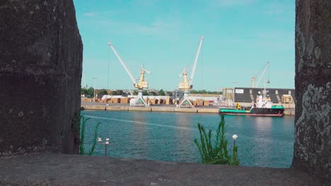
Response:
[[[199,138],[197,123],[216,131],[218,114],[156,113],[128,111],[82,111],[88,120],[86,149],[90,149],[93,129],[101,122],[99,137],[110,137],[108,155],[134,159],[199,162],[194,138]],[[226,137],[233,145],[238,135],[240,166],[288,168],[294,148],[294,117],[225,116]],[[95,155],[104,156],[98,144]]]

